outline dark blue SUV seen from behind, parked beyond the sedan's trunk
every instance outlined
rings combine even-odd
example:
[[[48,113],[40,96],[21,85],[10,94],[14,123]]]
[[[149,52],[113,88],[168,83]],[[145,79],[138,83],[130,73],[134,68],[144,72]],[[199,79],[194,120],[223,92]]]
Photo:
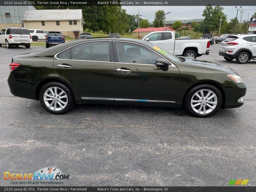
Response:
[[[46,48],[65,43],[65,37],[60,31],[48,31],[45,37]]]

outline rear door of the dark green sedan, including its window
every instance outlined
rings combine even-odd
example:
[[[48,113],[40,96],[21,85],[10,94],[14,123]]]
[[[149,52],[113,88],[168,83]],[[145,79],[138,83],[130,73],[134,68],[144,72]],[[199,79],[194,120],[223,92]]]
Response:
[[[114,101],[111,41],[85,42],[62,51],[55,56],[54,70],[74,86],[82,99]]]

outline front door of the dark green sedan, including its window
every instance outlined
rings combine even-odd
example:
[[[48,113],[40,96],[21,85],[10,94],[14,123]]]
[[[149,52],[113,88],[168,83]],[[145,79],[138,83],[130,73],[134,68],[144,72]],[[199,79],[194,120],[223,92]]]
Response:
[[[113,47],[117,78],[115,102],[176,103],[178,67],[170,62],[165,70],[157,67],[156,59],[162,57],[156,51],[137,43],[114,41]],[[157,46],[154,49],[163,51]],[[165,51],[163,53],[167,54]]]

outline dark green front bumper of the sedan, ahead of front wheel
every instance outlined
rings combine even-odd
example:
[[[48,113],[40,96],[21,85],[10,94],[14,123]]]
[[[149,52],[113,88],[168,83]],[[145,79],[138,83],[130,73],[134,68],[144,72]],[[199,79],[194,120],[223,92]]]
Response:
[[[222,88],[225,92],[223,109],[237,108],[243,105],[243,102],[238,102],[238,99],[246,94],[246,86],[244,83],[236,83],[234,86],[223,86]]]

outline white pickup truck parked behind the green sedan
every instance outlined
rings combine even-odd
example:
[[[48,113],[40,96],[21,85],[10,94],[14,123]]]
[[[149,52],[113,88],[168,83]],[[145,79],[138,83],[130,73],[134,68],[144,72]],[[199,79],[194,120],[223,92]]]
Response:
[[[142,40],[149,41],[173,55],[197,58],[210,53],[209,39],[175,39],[173,31],[151,32],[142,37]]]

